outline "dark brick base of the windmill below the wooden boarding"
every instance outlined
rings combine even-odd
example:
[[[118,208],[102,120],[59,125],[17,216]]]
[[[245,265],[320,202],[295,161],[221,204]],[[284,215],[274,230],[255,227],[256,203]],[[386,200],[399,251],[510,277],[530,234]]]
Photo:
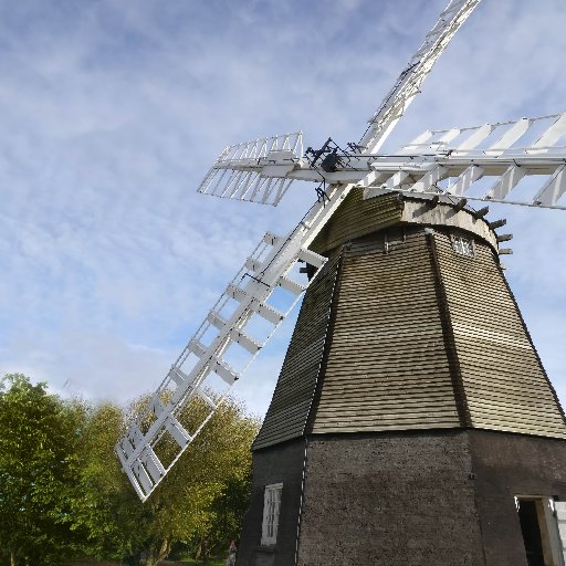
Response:
[[[263,488],[279,482],[265,548]],[[527,566],[515,495],[566,499],[566,441],[481,430],[313,436],[306,452],[290,441],[254,452],[238,565]]]

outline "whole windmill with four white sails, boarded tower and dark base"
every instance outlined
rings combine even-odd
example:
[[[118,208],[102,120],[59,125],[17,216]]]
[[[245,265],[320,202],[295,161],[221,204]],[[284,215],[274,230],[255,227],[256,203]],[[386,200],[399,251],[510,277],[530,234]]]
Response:
[[[294,180],[304,180],[315,184],[317,201],[287,235],[265,234],[116,452],[137,493],[147,499],[306,291],[254,446],[254,496],[240,551],[250,564],[315,564],[314,556],[324,562],[319,552],[327,539],[342,541],[352,560],[376,558],[371,553],[382,551],[384,541],[400,544],[407,534],[387,530],[377,536],[377,546],[356,543],[355,533],[340,538],[344,525],[327,521],[327,527],[323,518],[342,510],[359,528],[354,510],[369,512],[352,488],[344,489],[352,484],[373,505],[371,485],[387,484],[396,485],[397,491],[388,491],[398,502],[410,503],[400,497],[400,485],[413,485],[418,474],[396,484],[395,468],[375,468],[384,459],[403,461],[396,452],[401,448],[416,455],[424,478],[433,469],[431,454],[440,461],[450,453],[460,462],[452,469],[461,480],[450,484],[453,499],[442,499],[441,490],[427,482],[415,494],[424,496],[430,507],[438,505],[426,516],[432,517],[429,523],[439,527],[443,539],[458,541],[451,552],[464,548],[468,541],[462,530],[439,525],[437,517],[453,521],[454,501],[461,502],[461,524],[473,536],[461,560],[447,554],[446,564],[504,564],[501,556],[506,556],[505,545],[516,537],[518,523],[532,520],[528,510],[544,515],[549,506],[559,507],[555,495],[566,496],[565,478],[549,483],[543,473],[539,483],[514,489],[506,501],[506,512],[515,502],[523,511],[509,533],[497,533],[499,546],[485,542],[486,528],[480,528],[483,535],[476,533],[479,524],[491,524],[495,511],[482,503],[486,489],[474,491],[481,465],[470,462],[485,468],[490,450],[505,449],[515,455],[528,453],[527,460],[544,453],[555,468],[565,463],[564,415],[501,273],[499,255],[509,250],[500,244],[509,235],[495,230],[504,222],[489,221],[485,205],[566,208],[560,203],[566,151],[559,145],[566,115],[428,130],[395,155],[379,154],[478,3],[450,2],[358,142],[340,147],[328,139],[321,148],[305,149],[296,133],[229,146],[199,188],[217,197],[276,206]],[[530,197],[514,197],[525,180],[531,181]],[[308,281],[296,277],[298,263]],[[481,298],[471,303],[463,285],[473,286],[472,295]],[[193,400],[207,410],[188,429],[180,416]],[[537,411],[544,418],[537,418]],[[497,448],[490,448],[488,438]],[[163,461],[160,446],[166,441],[176,453]],[[420,453],[415,442],[428,452]],[[368,460],[368,454],[374,457]],[[344,463],[348,460],[356,463],[354,469]],[[504,468],[515,460],[509,455]],[[359,475],[364,465],[367,470]],[[335,469],[332,478],[328,469]],[[522,474],[532,474],[527,472]],[[381,483],[374,476],[379,473]],[[495,475],[504,476],[501,470]],[[451,479],[443,478],[447,483]],[[381,494],[387,521],[403,525],[407,510],[394,512],[391,493]],[[412,521],[402,528],[409,530]],[[376,521],[366,522],[377,530]],[[539,531],[543,526],[539,523]],[[548,539],[558,536],[551,527],[544,526]],[[437,541],[419,524],[420,532]],[[359,533],[357,538],[363,538]],[[552,542],[545,544],[546,553],[556,554]],[[396,555],[394,546],[387,559],[381,558],[384,564],[411,564],[400,551]]]

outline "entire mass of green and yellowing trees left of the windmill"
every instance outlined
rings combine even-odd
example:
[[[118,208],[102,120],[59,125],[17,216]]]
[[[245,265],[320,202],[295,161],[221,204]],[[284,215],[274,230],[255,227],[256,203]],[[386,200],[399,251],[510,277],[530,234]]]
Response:
[[[175,546],[201,557],[235,538],[248,505],[258,421],[220,406],[146,503],[122,472],[114,446],[127,409],[62,400],[14,374],[0,381],[0,556],[12,566],[74,557],[158,564]],[[182,416],[190,428],[198,402]],[[161,454],[167,457],[167,444]]]

